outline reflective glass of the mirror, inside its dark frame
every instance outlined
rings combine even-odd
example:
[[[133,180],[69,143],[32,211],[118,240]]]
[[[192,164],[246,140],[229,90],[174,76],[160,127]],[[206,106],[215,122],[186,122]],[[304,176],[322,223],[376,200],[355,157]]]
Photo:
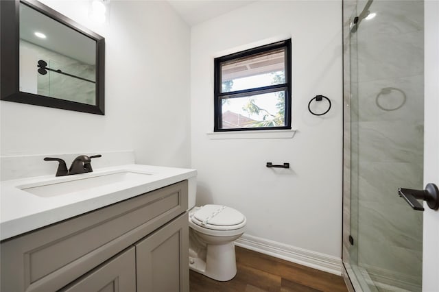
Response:
[[[95,106],[96,45],[20,3],[19,91]]]

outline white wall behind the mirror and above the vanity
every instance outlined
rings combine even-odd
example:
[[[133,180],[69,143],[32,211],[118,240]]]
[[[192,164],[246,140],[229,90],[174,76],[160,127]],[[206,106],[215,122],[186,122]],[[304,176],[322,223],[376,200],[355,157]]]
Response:
[[[190,29],[167,1],[110,1],[104,25],[88,1],[43,3],[106,38],[106,114],[1,101],[1,156],[134,149],[137,163],[189,167]]]

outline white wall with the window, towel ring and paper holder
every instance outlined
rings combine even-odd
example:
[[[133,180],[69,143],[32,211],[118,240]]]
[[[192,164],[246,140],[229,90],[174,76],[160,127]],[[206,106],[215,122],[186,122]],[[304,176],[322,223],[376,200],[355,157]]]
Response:
[[[213,58],[282,36],[292,38],[294,138],[209,138]],[[318,94],[333,103],[322,117],[307,109]],[[341,258],[342,2],[258,1],[192,27],[191,149],[198,204],[237,208],[252,236]]]

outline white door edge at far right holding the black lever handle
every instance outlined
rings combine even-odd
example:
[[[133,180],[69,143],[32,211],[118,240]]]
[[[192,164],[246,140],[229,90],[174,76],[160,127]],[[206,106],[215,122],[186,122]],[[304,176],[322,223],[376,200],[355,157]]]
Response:
[[[439,186],[439,2],[425,1],[424,186]],[[439,211],[424,204],[423,291],[439,291]]]

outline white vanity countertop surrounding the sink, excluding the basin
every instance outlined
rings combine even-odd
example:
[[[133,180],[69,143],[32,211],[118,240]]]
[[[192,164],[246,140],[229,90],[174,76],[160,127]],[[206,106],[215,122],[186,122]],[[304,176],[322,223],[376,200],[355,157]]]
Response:
[[[21,188],[57,184],[109,173],[130,171],[147,173],[127,182],[112,182],[102,186],[71,191],[53,197],[40,197]],[[195,178],[195,169],[156,167],[150,165],[119,165],[82,173],[55,177],[5,180],[0,182],[0,240],[68,219],[85,212],[129,199],[182,180]]]

